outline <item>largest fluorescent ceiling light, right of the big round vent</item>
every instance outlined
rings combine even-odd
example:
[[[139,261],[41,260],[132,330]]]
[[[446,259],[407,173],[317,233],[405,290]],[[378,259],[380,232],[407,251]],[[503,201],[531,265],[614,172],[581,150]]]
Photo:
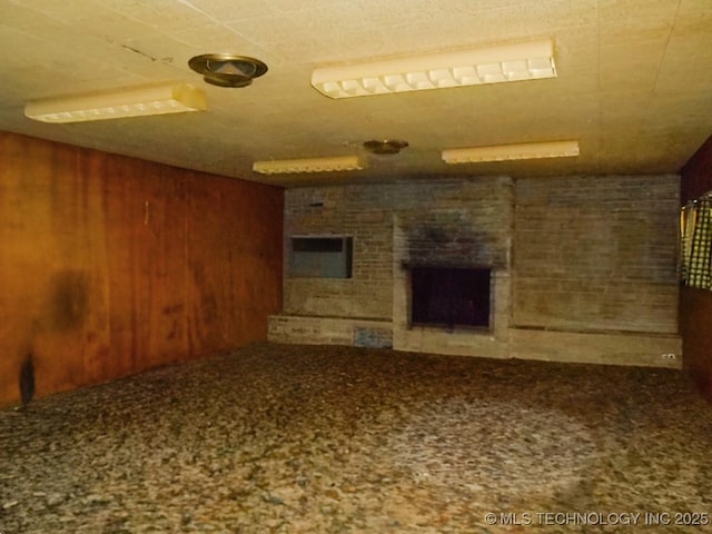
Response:
[[[554,78],[553,41],[318,68],[312,85],[330,98]]]

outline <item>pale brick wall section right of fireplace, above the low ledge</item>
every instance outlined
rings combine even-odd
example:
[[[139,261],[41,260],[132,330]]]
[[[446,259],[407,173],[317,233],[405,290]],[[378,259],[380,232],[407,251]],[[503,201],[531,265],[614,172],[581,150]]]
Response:
[[[675,176],[516,182],[513,325],[678,332]]]

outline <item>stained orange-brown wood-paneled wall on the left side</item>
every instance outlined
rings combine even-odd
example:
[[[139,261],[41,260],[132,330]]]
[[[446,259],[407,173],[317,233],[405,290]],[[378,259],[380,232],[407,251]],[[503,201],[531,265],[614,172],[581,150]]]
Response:
[[[0,132],[0,405],[264,340],[283,190]]]

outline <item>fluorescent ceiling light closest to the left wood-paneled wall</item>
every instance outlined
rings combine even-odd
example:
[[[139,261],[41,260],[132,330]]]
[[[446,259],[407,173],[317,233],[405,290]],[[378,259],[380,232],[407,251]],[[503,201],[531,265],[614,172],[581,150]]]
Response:
[[[59,123],[202,111],[207,108],[202,90],[188,83],[172,83],[33,100],[24,106],[24,115],[42,122]]]

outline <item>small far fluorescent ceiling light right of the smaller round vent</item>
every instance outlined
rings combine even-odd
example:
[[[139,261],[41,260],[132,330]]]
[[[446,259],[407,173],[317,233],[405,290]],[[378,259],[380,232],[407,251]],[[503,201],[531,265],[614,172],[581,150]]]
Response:
[[[578,156],[578,141],[524,142],[490,147],[452,148],[443,150],[446,164],[478,164],[512,159],[567,158]]]

